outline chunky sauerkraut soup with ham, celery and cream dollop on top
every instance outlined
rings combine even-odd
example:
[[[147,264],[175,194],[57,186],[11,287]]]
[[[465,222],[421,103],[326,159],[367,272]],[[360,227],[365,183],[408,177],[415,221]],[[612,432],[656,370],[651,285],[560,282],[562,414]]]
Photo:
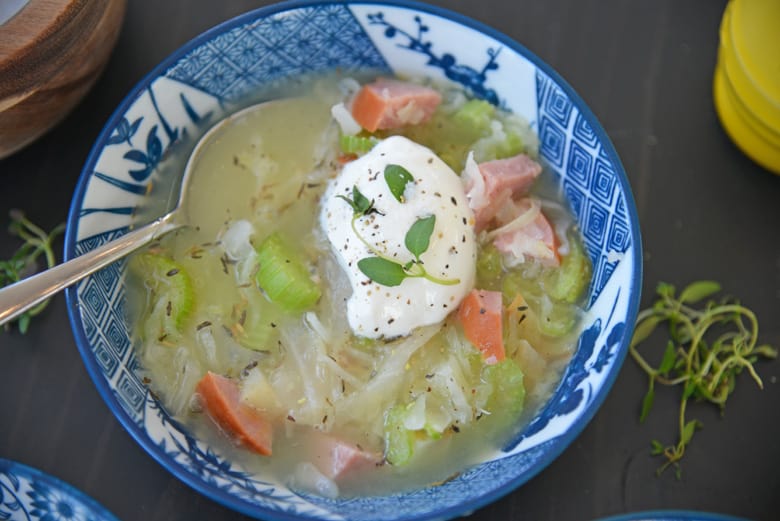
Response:
[[[521,118],[419,80],[309,85],[225,126],[192,226],[130,260],[144,380],[293,488],[443,482],[559,381],[588,257]]]

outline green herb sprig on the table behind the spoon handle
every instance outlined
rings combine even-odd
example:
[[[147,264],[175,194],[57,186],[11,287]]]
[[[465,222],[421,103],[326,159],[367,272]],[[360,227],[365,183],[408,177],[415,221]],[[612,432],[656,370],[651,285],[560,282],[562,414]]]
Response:
[[[60,224],[51,233],[46,233],[24,216],[19,210],[11,210],[11,224],[8,231],[11,235],[19,237],[24,243],[16,250],[16,253],[8,260],[0,260],[0,287],[10,286],[19,282],[27,275],[36,271],[38,257],[46,259],[46,265],[51,268],[57,263],[52,242],[65,230],[65,225]],[[21,333],[26,333],[30,327],[30,319],[44,310],[48,300],[44,300],[16,319],[17,327]],[[6,324],[6,329],[9,328]]]

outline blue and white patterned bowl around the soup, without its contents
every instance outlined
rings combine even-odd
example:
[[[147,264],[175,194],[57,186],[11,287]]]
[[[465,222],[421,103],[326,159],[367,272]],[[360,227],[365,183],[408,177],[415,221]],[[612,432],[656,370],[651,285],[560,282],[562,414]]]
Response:
[[[67,292],[95,385],[127,431],[179,479],[263,519],[446,519],[520,486],[555,459],[601,405],[628,350],[641,288],[638,218],[620,160],[580,97],[548,65],[497,31],[420,3],[303,1],[223,23],[174,52],[111,117],[89,156],[68,218],[66,257],[124,234],[166,151],[287,76],[339,68],[462,84],[531,122],[593,262],[576,353],[549,403],[500,453],[440,486],[331,500],[300,495],[226,461],[161,408],[139,377],[125,321],[124,265]]]

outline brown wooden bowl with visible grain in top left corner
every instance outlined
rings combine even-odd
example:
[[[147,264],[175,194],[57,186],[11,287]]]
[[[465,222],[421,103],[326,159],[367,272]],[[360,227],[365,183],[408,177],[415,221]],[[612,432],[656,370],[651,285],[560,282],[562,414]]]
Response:
[[[116,43],[126,0],[29,0],[0,25],[0,159],[84,97]]]

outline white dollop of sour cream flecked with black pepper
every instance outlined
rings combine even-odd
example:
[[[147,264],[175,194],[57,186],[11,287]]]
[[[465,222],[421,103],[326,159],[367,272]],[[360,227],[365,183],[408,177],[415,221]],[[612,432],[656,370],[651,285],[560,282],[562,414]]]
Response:
[[[406,183],[401,201],[385,179],[388,165],[400,165],[414,179]],[[354,230],[353,208],[344,199],[352,199],[353,187],[373,201],[375,210],[358,217]],[[414,261],[407,232],[430,216],[435,224],[419,260],[428,274],[447,284],[407,277],[397,286],[384,286],[361,271],[358,262],[377,253],[402,266]],[[344,166],[324,194],[320,224],[352,286],[347,318],[356,335],[391,338],[439,323],[474,286],[474,214],[463,184],[434,152],[405,137],[384,139]]]

